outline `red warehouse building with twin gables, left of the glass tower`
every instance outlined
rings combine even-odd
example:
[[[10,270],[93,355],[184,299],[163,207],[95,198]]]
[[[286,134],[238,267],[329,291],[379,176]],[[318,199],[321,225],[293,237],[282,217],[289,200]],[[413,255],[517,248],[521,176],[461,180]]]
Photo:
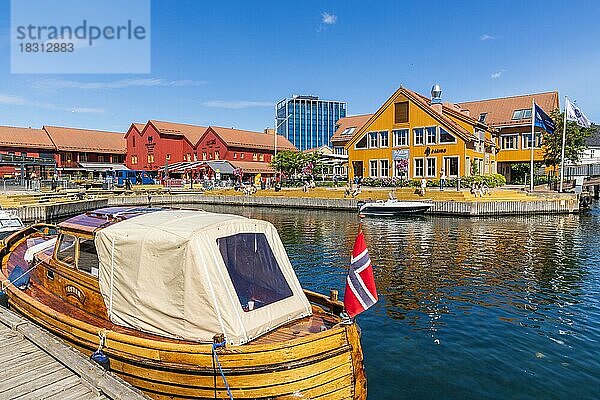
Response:
[[[275,150],[297,151],[285,137],[272,130],[253,132],[217,126],[198,126],[151,120],[132,124],[125,135],[130,169],[157,171],[165,163],[227,160],[255,163],[256,170],[270,172]]]

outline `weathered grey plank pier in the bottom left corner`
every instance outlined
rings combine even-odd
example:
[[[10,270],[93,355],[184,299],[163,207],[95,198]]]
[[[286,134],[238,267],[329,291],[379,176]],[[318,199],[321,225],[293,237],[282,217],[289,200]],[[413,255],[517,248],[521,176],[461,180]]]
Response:
[[[147,400],[35,324],[0,307],[0,399]]]

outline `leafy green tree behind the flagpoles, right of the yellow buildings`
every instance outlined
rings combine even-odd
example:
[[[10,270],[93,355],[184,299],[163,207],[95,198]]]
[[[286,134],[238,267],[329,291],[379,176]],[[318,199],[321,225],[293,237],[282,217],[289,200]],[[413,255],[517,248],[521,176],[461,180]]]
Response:
[[[556,109],[550,113],[550,117],[556,124],[556,130],[550,134],[542,133],[544,143],[544,163],[547,166],[556,167],[561,163],[562,131],[564,128],[564,113]],[[565,162],[570,161],[577,164],[581,159],[583,151],[587,148],[586,139],[592,134],[592,129],[584,128],[573,121],[567,121],[567,134],[565,137]]]

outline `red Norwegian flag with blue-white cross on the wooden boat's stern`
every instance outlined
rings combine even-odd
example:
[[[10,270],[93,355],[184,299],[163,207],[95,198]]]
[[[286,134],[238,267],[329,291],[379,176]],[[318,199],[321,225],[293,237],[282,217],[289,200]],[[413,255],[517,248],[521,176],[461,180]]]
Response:
[[[377,288],[373,278],[369,250],[362,229],[359,229],[346,278],[344,307],[346,307],[348,315],[353,318],[371,307],[377,300]]]

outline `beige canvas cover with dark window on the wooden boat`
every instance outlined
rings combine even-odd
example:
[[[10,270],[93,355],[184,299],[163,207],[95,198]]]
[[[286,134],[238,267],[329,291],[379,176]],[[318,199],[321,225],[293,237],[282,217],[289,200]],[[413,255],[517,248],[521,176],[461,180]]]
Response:
[[[203,211],[157,211],[100,230],[110,320],[158,335],[244,344],[311,314],[277,230]]]

